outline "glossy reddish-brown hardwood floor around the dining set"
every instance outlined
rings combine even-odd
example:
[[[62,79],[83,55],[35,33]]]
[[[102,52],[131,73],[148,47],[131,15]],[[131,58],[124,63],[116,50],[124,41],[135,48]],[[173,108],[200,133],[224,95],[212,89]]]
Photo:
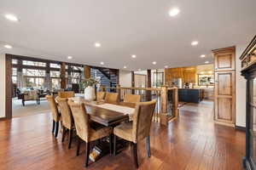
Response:
[[[239,170],[245,155],[245,133],[232,127],[214,125],[212,102],[186,104],[177,121],[168,127],[153,122],[151,129],[151,157],[145,141],[138,144],[139,169]],[[61,135],[51,134],[49,114],[23,116],[0,122],[0,169],[48,170],[85,169],[84,149],[76,156],[74,140],[71,150]],[[117,156],[104,156],[88,169],[135,169],[131,148]]]

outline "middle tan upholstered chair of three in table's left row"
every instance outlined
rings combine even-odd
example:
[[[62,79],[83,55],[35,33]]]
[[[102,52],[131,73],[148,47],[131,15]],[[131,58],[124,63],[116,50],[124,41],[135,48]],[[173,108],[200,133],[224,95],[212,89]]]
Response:
[[[69,132],[68,149],[70,149],[72,144],[73,130],[75,129],[72,112],[70,110],[69,105],[67,104],[67,98],[56,98],[56,100],[61,110],[61,121],[62,121],[62,128],[63,128],[61,142],[64,142],[66,133],[68,131]]]

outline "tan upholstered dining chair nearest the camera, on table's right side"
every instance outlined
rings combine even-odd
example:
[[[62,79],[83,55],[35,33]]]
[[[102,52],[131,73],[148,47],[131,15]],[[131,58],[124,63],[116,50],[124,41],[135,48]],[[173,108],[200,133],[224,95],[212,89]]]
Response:
[[[133,122],[125,122],[113,128],[113,153],[116,155],[116,136],[131,142],[133,145],[133,158],[135,167],[137,163],[137,142],[146,139],[146,146],[148,150],[148,157],[150,153],[150,127],[156,99],[149,102],[137,103],[133,115]]]

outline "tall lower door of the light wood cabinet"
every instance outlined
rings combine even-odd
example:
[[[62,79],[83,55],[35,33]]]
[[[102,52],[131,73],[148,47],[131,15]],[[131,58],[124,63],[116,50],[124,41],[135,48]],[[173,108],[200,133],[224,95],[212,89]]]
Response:
[[[215,115],[217,122],[235,123],[235,71],[215,72]]]

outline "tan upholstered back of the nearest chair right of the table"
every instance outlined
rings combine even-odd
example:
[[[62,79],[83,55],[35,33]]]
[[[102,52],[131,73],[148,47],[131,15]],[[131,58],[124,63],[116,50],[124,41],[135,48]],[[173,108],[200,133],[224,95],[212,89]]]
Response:
[[[137,103],[133,115],[132,139],[134,143],[149,136],[156,99]]]

